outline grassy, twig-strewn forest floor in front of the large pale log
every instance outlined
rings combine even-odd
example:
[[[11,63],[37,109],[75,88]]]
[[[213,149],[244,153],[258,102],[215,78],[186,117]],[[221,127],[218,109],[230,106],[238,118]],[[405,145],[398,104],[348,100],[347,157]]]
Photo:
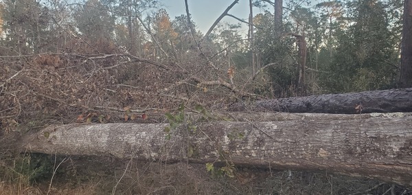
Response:
[[[3,152],[3,194],[412,194],[398,185],[328,172],[236,168],[233,176],[203,164]]]

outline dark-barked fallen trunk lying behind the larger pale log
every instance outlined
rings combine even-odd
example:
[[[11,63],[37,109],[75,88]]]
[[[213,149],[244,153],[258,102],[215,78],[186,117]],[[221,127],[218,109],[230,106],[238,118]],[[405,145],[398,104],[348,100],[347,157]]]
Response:
[[[261,100],[250,105],[241,102],[233,104],[229,110],[339,114],[412,112],[412,88]]]

